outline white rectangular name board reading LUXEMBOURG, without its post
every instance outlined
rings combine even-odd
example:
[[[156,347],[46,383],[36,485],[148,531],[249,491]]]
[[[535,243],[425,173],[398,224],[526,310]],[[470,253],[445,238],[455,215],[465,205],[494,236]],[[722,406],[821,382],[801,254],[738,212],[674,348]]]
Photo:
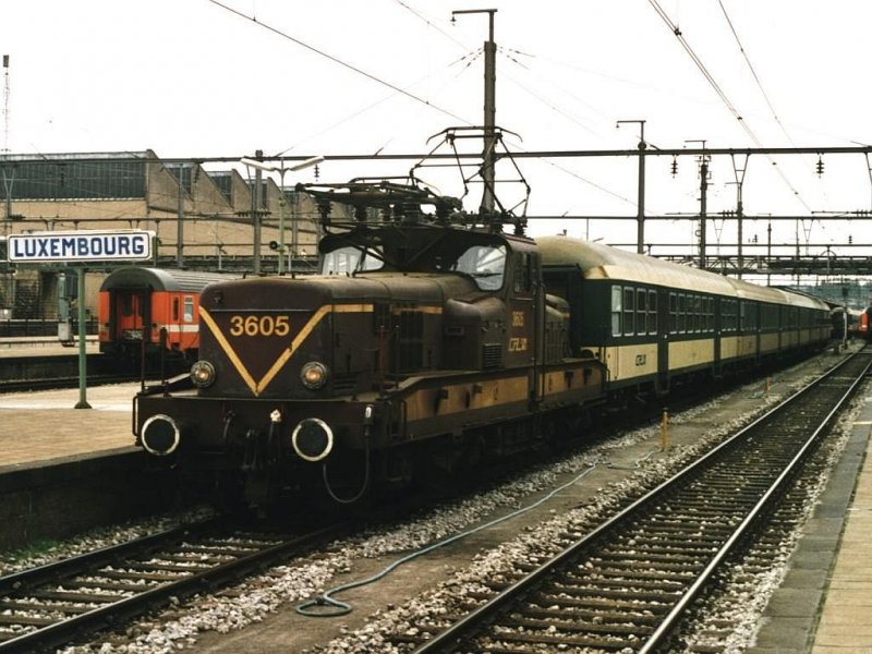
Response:
[[[155,232],[137,229],[12,234],[8,256],[20,263],[148,259],[154,240]]]

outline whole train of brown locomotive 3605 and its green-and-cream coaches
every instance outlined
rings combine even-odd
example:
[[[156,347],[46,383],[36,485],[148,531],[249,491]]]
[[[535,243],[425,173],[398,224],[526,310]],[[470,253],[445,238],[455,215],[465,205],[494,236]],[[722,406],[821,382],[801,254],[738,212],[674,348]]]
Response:
[[[824,347],[813,298],[459,211],[416,183],[308,185],[322,275],[206,288],[186,385],[136,444],[215,498],[336,501],[583,433],[604,405]],[[355,220],[330,219],[334,203]]]

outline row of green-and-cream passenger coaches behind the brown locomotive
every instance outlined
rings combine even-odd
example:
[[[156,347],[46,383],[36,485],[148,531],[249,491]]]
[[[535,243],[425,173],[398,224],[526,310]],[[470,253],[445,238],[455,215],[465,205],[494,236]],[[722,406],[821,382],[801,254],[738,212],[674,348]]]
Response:
[[[698,268],[567,237],[537,239],[549,293],[570,306],[572,354],[609,370],[609,388],[667,392],[824,346],[827,305]]]

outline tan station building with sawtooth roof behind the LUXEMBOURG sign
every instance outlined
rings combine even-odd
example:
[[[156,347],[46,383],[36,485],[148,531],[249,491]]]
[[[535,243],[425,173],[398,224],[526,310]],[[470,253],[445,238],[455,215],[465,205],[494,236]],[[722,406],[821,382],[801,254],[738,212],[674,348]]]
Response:
[[[263,272],[278,268],[280,221],[286,269],[311,269],[318,240],[311,196],[279,189],[267,174],[255,193],[255,172],[246,175],[231,164],[161,160],[153,150],[0,155],[0,249],[12,234],[144,229],[157,234],[154,265],[243,272],[252,270],[256,216]],[[56,318],[59,275],[69,269],[10,266],[0,252],[0,322]],[[86,307],[94,315],[97,290],[110,270],[88,266]]]

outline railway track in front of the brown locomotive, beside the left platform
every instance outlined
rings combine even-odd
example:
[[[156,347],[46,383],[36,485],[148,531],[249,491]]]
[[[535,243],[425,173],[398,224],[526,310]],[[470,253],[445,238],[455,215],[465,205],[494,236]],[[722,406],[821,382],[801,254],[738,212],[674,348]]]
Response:
[[[0,652],[38,652],[83,639],[237,581],[347,529],[287,534],[215,520],[2,577]]]

